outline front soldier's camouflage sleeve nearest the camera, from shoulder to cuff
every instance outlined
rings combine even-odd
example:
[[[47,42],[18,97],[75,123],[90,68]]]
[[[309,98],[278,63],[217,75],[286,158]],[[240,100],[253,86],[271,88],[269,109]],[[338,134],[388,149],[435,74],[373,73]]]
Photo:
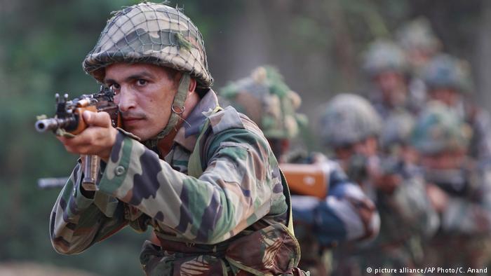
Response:
[[[208,166],[196,179],[119,132],[100,191],[192,242],[227,240],[270,212],[278,180],[264,141],[247,130],[217,135],[208,149]]]

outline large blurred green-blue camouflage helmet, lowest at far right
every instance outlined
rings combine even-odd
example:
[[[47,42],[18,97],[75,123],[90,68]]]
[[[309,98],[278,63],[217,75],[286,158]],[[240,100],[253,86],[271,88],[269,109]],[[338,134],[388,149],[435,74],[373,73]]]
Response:
[[[440,102],[429,102],[417,119],[411,142],[423,154],[466,149],[472,130]]]

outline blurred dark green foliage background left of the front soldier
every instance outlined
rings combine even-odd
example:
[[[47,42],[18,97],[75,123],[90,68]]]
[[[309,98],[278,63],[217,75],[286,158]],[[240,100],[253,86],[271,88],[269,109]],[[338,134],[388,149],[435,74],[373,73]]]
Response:
[[[95,92],[81,60],[105,25],[109,11],[135,1],[9,2],[0,9],[0,259],[51,263],[100,275],[141,275],[146,236],[123,230],[79,256],[51,247],[48,221],[58,190],[36,188],[40,177],[65,177],[76,156],[52,134],[35,132],[36,115],[54,113],[55,92]]]

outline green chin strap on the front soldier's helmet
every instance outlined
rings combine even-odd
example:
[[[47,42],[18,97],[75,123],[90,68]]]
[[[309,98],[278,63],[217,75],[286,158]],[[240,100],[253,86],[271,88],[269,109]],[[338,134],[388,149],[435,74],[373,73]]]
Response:
[[[186,102],[187,90],[189,89],[190,81],[191,77],[189,76],[189,73],[182,74],[179,88],[177,88],[177,93],[174,97],[174,102],[172,106],[170,106],[171,113],[166,127],[164,127],[163,130],[161,130],[161,132],[159,132],[159,134],[157,134],[155,137],[143,142],[143,144],[149,149],[156,149],[160,139],[166,137],[170,132],[172,132],[175,129],[177,123],[179,123],[182,113],[184,113],[184,103]]]

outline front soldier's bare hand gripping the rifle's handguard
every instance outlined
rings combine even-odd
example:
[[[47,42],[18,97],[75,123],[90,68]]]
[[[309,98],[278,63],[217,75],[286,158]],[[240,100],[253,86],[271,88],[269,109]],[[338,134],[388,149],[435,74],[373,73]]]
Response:
[[[118,132],[112,127],[109,114],[83,111],[82,116],[88,127],[73,138],[58,137],[58,140],[70,153],[96,155],[107,162]]]

